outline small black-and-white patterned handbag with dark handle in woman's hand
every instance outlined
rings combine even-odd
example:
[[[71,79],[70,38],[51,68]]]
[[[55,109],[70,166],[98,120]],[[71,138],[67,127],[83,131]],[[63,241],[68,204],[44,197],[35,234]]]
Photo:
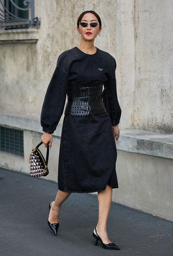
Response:
[[[49,158],[49,143],[47,144],[46,160],[42,152],[38,149],[43,142],[41,141],[29,155],[29,171],[32,177],[47,176],[49,174],[48,158]]]

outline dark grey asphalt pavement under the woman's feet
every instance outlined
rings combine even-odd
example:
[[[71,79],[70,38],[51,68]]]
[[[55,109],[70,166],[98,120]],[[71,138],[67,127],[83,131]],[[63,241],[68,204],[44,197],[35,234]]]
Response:
[[[112,203],[107,231],[121,251],[95,246],[97,196],[72,193],[63,203],[57,236],[47,224],[57,183],[0,168],[1,256],[172,256],[173,223]]]

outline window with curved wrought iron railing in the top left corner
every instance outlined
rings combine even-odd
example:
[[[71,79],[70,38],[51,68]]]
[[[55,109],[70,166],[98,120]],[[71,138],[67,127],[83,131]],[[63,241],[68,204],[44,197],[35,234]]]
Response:
[[[34,0],[0,0],[0,28],[21,29],[39,27]]]

